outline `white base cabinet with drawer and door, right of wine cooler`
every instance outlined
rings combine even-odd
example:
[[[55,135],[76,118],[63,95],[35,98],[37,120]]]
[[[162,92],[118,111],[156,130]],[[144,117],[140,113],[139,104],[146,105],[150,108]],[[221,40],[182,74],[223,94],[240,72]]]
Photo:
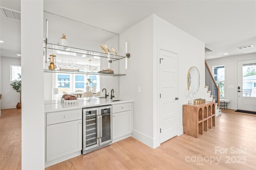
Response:
[[[117,105],[113,105],[112,107],[113,107],[113,114],[112,114],[113,139],[117,139],[132,133],[131,103],[117,104]],[[121,111],[121,112],[116,112],[115,110]]]

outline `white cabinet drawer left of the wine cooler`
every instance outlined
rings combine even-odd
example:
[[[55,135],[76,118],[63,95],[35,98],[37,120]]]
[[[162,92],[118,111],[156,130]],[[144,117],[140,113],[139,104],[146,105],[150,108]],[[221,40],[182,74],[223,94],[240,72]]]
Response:
[[[82,109],[47,113],[46,124],[52,125],[82,119]]]

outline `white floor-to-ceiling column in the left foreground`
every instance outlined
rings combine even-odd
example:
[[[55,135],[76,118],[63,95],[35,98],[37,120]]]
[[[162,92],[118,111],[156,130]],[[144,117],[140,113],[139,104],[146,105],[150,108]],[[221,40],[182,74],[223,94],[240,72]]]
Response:
[[[43,0],[21,0],[22,169],[44,169]]]

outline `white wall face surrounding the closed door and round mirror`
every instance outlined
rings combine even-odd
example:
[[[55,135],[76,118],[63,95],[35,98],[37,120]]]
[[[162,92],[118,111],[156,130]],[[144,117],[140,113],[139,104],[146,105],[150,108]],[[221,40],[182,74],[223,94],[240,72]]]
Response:
[[[178,54],[178,135],[183,133],[182,126],[182,105],[190,100],[187,87],[187,74],[191,66],[196,66],[200,74],[200,87],[196,94],[197,98],[208,100],[205,86],[205,66],[204,66],[204,43],[171,23],[154,15],[154,138],[159,139],[158,123],[158,86],[157,86],[157,66],[158,48],[162,47],[174,51]],[[208,96],[207,96],[208,95]],[[156,141],[157,143],[157,141]]]

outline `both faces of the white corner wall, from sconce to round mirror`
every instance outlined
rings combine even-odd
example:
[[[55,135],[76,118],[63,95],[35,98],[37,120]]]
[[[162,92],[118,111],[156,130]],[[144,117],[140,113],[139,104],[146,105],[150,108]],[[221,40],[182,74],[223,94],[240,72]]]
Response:
[[[154,14],[120,34],[120,51],[125,55],[125,41],[131,54],[129,69],[125,60],[120,64],[120,98],[134,100],[132,136],[146,145],[159,146],[158,117],[158,48],[163,47],[178,53],[178,135],[183,133],[182,105],[189,98],[186,77],[191,66],[200,72],[198,98],[211,100],[204,88],[204,43],[188,33],[162,20]],[[141,93],[137,88],[141,87]]]

